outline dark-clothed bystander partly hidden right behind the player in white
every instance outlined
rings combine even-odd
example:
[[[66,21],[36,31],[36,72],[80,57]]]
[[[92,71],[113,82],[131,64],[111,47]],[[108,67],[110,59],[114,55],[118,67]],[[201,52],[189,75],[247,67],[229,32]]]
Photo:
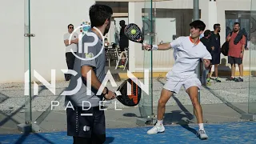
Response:
[[[206,30],[205,32],[204,32],[204,37],[202,37],[201,39],[200,39],[200,41],[202,42],[202,44],[204,45],[204,46],[206,46],[206,49],[209,51],[209,52],[211,52],[212,50],[214,50],[214,47],[211,47],[211,44],[210,44],[210,30]],[[203,86],[210,86],[210,74],[209,74],[209,70],[211,69],[211,67],[210,67],[210,69],[209,70],[206,70],[205,68],[204,68],[204,66],[202,66],[203,67],[203,71],[202,71],[202,85]],[[206,82],[206,78],[207,78],[207,82]]]

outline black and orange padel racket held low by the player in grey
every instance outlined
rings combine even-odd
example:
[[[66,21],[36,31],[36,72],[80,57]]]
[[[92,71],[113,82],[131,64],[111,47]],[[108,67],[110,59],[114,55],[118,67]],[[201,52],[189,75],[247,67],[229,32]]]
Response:
[[[127,93],[127,83],[130,84],[130,94]],[[117,91],[121,94],[115,93],[116,98],[125,106],[137,106],[142,97],[142,89],[130,78],[122,82]]]

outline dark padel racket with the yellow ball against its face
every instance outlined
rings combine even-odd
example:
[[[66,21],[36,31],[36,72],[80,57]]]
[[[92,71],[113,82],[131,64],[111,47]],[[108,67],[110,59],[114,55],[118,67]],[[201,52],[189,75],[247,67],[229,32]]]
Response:
[[[142,34],[142,30],[134,23],[130,23],[125,27],[125,32],[126,37],[129,38],[130,41],[132,42],[138,42],[142,43],[143,46],[146,46]],[[152,46],[151,46],[152,47]]]

